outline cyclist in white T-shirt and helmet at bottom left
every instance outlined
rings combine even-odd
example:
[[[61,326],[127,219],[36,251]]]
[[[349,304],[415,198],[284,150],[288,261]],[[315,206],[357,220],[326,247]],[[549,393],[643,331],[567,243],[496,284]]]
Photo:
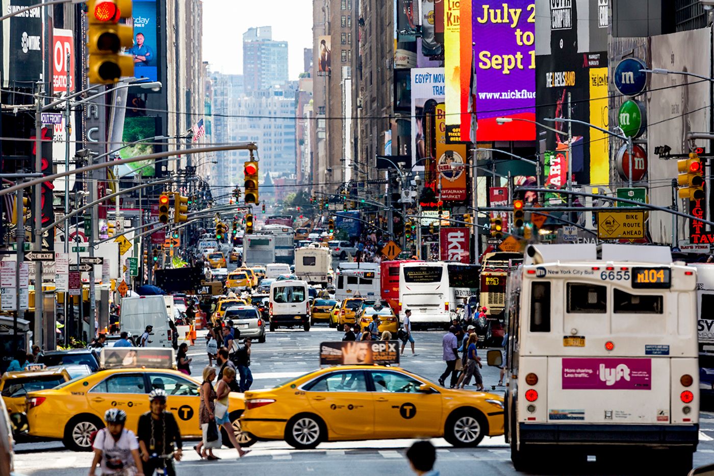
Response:
[[[94,460],[89,476],[95,475],[97,465],[101,476],[144,476],[139,456],[139,443],[131,430],[126,430],[126,412],[110,408],[104,413],[106,427],[94,437]]]

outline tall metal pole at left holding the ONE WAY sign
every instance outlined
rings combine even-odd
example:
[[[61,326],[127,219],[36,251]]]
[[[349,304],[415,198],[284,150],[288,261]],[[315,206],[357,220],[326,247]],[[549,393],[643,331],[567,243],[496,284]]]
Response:
[[[35,172],[42,171],[42,98],[43,93],[42,83],[37,82],[37,104],[35,110]],[[35,184],[34,187],[34,210],[32,212],[35,219],[35,251],[42,251],[42,182]],[[19,203],[19,208],[22,208],[22,203]],[[19,249],[18,253],[24,252]],[[19,282],[17,283],[19,289]],[[18,302],[19,294],[18,294]],[[43,342],[42,339],[42,312],[44,304],[44,295],[42,293],[42,262],[35,263],[35,324],[34,324],[34,340],[35,342]],[[19,305],[18,305],[19,307]]]

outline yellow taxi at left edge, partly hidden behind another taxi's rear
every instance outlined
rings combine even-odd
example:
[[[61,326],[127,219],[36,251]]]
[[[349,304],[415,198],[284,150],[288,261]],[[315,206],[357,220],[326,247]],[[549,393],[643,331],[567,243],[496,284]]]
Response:
[[[8,412],[22,413],[26,410],[28,392],[53,388],[67,380],[69,372],[64,368],[5,372],[0,380],[0,395]]]

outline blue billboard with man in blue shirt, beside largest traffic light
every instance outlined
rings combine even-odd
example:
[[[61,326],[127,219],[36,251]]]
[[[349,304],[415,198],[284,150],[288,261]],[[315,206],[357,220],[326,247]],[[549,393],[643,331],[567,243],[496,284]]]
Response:
[[[156,0],[133,0],[134,46],[127,54],[134,56],[134,76],[159,80],[159,23]]]

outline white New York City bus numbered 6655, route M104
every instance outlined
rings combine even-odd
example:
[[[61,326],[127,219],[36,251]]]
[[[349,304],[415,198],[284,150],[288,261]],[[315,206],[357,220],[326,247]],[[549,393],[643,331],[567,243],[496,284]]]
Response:
[[[562,468],[567,453],[573,467],[626,455],[687,474],[699,440],[696,279],[668,247],[528,247],[506,293],[516,470]]]

